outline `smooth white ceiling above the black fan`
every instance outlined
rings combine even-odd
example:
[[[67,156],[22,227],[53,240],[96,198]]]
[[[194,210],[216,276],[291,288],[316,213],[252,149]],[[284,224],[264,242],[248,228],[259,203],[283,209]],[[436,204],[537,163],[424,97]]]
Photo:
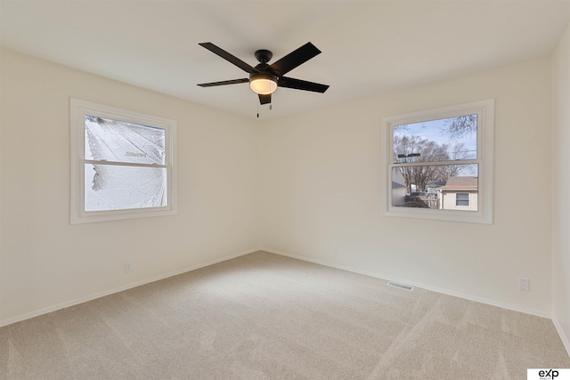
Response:
[[[570,0],[0,0],[0,41],[249,118],[247,84],[197,86],[248,77],[199,43],[255,66],[257,49],[272,63],[312,42],[322,53],[287,76],[329,90],[279,88],[267,119],[548,55],[569,20]]]

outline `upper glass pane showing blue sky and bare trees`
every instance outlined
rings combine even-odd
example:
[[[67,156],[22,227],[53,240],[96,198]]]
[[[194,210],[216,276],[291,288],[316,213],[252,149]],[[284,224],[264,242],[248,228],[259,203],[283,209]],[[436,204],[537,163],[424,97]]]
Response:
[[[476,159],[477,115],[394,126],[394,163]]]

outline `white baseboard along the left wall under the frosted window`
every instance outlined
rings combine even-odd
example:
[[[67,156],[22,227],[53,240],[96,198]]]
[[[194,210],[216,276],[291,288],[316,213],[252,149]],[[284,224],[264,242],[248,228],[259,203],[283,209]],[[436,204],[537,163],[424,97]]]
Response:
[[[87,295],[85,297],[77,298],[75,300],[67,301],[64,303],[58,303],[58,304],[55,304],[53,306],[49,306],[49,307],[46,307],[43,309],[39,309],[37,311],[31,311],[31,312],[28,312],[26,314],[19,315],[17,317],[13,317],[13,318],[9,318],[9,319],[3,319],[3,320],[0,320],[0,327],[11,325],[12,323],[20,322],[20,321],[25,320],[25,319],[34,318],[34,317],[40,316],[42,314],[47,314],[48,312],[58,311],[58,310],[64,309],[64,308],[69,307],[69,306],[77,305],[79,303],[86,303],[86,302],[92,301],[96,298],[104,297],[105,295],[112,295],[112,294],[122,292],[122,291],[127,290],[127,289],[131,289],[133,287],[140,287],[141,285],[149,284],[149,283],[154,282],[154,281],[159,281],[160,279],[167,279],[169,277],[173,277],[173,276],[176,276],[178,274],[185,273],[187,271],[195,271],[199,268],[203,268],[203,267],[206,267],[208,265],[212,265],[215,263],[222,263],[226,260],[231,260],[231,259],[234,259],[236,257],[252,254],[252,253],[257,252],[259,250],[260,250],[260,248],[249,249],[247,251],[243,251],[243,252],[240,252],[238,254],[224,256],[220,259],[212,260],[212,261],[209,261],[206,263],[199,263],[197,265],[192,265],[191,267],[187,267],[187,268],[184,268],[184,269],[179,270],[179,271],[171,271],[171,272],[168,272],[168,273],[156,276],[156,277],[152,277],[151,279],[142,279],[140,281],[130,283],[130,284],[125,285],[123,287],[115,287],[113,289],[106,290],[106,291],[101,292],[101,293],[96,293],[94,295]]]

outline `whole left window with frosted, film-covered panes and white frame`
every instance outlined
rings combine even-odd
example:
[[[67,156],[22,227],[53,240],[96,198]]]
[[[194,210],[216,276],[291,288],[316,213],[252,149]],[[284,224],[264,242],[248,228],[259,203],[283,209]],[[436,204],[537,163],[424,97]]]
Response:
[[[71,223],[176,213],[176,122],[71,99]]]

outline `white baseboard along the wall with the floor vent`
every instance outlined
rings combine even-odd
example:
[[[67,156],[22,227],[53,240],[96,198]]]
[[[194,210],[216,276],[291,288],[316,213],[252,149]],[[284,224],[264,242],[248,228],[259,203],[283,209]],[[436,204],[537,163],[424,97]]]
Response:
[[[452,295],[454,297],[464,298],[464,299],[467,299],[469,301],[475,301],[478,303],[486,303],[486,304],[489,304],[492,306],[501,307],[503,309],[508,309],[508,310],[512,310],[512,311],[520,311],[520,312],[524,312],[525,314],[531,314],[531,315],[535,315],[537,317],[552,319],[552,314],[550,312],[546,312],[546,311],[524,308],[524,307],[520,307],[517,305],[510,304],[510,303],[501,303],[498,301],[494,301],[494,300],[482,298],[482,297],[477,297],[474,295],[466,295],[466,294],[463,294],[460,292],[454,292],[454,291],[449,290],[449,289],[444,289],[444,288],[440,288],[440,287],[432,287],[429,285],[420,284],[418,282],[410,281],[409,279],[395,279],[395,278],[393,278],[391,276],[387,276],[383,273],[375,273],[375,272],[371,272],[371,271],[359,271],[359,270],[356,270],[352,267],[348,267],[346,265],[338,265],[336,263],[329,263],[329,262],[324,262],[321,260],[314,260],[314,259],[311,259],[311,258],[308,258],[305,256],[300,256],[300,255],[291,255],[287,252],[282,252],[282,251],[278,251],[278,250],[267,248],[267,247],[261,247],[260,249],[262,251],[265,251],[265,252],[269,252],[269,253],[276,254],[276,255],[289,256],[289,257],[293,257],[293,258],[298,259],[298,260],[303,260],[305,262],[317,263],[317,264],[329,266],[332,268],[341,269],[343,271],[352,271],[354,273],[363,274],[363,275],[374,277],[377,279],[386,279],[387,281],[395,281],[395,282],[399,282],[399,283],[404,283],[407,285],[411,285],[412,287],[421,287],[422,289],[430,290],[430,291],[441,293],[444,295]]]

